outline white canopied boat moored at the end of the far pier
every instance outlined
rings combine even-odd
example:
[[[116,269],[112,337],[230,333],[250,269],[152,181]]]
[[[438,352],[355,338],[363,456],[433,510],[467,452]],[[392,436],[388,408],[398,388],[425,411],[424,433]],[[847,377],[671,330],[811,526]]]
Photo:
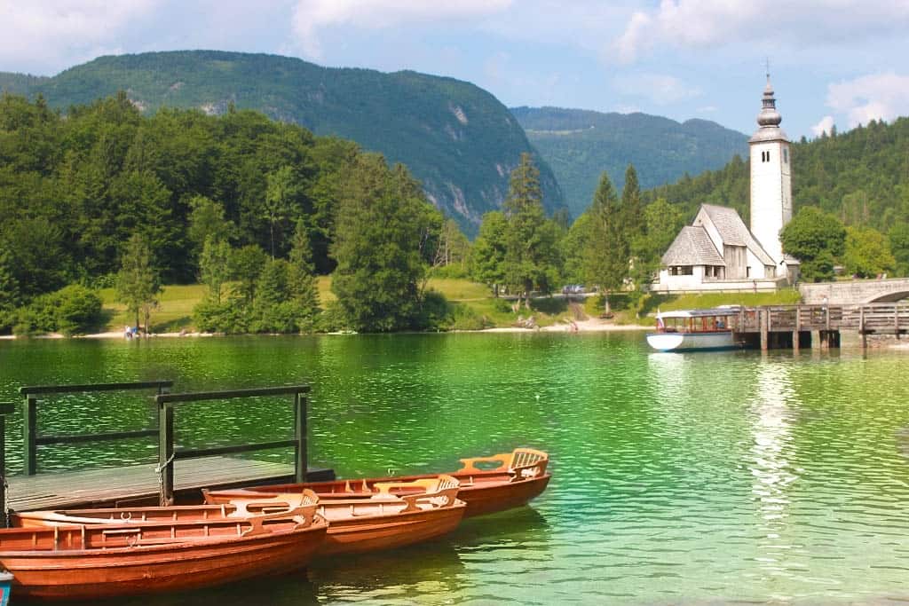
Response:
[[[658,352],[693,352],[735,349],[733,318],[739,307],[678,310],[656,313],[656,332],[647,333],[647,343]]]

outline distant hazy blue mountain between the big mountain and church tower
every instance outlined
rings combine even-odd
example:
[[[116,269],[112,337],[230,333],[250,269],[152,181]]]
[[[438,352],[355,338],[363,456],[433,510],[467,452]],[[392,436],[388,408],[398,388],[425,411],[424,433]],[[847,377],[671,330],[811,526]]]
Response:
[[[513,107],[511,112],[549,164],[571,214],[584,212],[600,174],[622,191],[634,164],[642,188],[700,174],[747,154],[748,137],[707,120],[682,124],[648,114],[602,114],[559,107]]]

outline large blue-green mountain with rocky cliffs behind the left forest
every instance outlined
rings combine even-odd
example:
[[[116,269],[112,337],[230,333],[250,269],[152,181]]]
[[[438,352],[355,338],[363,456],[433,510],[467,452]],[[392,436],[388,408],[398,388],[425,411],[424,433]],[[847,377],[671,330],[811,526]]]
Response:
[[[406,164],[432,202],[467,233],[502,204],[523,152],[534,154],[540,168],[547,211],[564,205],[552,171],[508,109],[453,78],[325,68],[276,55],[175,51],[103,56],[34,82],[3,75],[4,85],[43,94],[57,108],[119,90],[145,112],[166,105],[221,114],[233,104],[315,134],[352,139],[390,163]]]

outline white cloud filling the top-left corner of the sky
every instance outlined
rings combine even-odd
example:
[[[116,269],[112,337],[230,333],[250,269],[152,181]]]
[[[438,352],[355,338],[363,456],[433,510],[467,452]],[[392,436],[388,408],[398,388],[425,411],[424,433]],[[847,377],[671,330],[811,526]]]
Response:
[[[122,29],[156,0],[0,0],[0,64],[10,71],[74,65],[120,51]],[[2,67],[0,67],[2,68]]]

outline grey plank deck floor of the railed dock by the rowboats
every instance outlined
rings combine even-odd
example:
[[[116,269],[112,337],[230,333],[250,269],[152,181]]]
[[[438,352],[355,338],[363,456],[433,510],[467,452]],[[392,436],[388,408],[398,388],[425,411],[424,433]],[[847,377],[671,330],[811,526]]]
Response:
[[[230,488],[244,484],[294,482],[294,465],[235,457],[205,457],[174,462],[175,493],[192,499],[201,488]],[[19,512],[117,502],[157,504],[158,474],[154,463],[79,472],[9,476],[7,499]],[[310,481],[331,480],[330,469],[307,471]]]

